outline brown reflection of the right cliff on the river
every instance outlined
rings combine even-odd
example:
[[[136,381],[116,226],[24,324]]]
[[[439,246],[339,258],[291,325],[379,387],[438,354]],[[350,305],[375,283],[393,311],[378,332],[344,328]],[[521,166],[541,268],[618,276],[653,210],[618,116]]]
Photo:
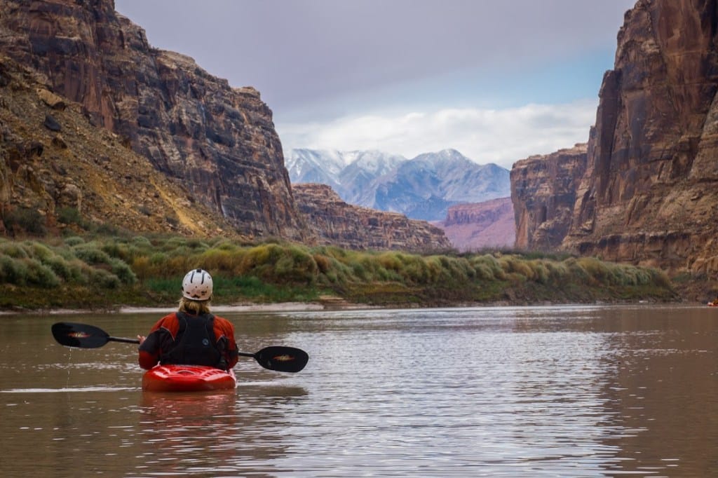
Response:
[[[718,476],[716,322],[704,309],[684,312],[615,309],[607,322],[615,365],[603,392],[615,432],[604,442],[620,460],[609,472]]]

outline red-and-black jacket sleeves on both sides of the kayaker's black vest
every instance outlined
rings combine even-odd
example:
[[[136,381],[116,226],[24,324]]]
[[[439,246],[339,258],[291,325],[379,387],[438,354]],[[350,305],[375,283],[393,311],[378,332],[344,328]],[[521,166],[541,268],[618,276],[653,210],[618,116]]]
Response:
[[[218,348],[223,350],[223,358],[227,364],[227,370],[229,370],[237,364],[238,360],[234,326],[223,317],[216,315],[214,317],[213,329],[216,345],[221,345]],[[139,346],[139,366],[149,370],[157,365],[162,355],[172,350],[172,347],[176,345],[177,332],[179,331],[180,319],[177,318],[177,312],[172,312],[172,314],[159,319],[150,330],[147,338]]]

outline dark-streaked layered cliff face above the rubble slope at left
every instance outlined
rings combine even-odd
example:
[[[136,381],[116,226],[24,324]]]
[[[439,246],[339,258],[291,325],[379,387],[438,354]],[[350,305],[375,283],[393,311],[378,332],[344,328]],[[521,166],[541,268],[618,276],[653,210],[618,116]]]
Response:
[[[0,48],[248,235],[306,239],[271,111],[149,46],[112,0],[0,0]]]

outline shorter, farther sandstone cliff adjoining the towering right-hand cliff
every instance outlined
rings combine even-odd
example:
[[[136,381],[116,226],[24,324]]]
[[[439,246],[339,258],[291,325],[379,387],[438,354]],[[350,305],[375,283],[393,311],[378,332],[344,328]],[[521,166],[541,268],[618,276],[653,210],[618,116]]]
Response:
[[[511,200],[516,248],[555,250],[571,222],[576,189],[586,169],[587,145],[531,156],[513,164]]]

